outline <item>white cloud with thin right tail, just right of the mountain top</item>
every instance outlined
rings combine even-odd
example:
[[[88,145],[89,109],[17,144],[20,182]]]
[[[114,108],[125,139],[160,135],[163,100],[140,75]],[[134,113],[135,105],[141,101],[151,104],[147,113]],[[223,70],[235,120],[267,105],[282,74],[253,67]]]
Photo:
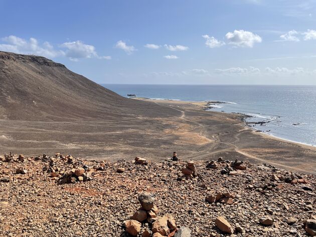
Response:
[[[65,55],[72,61],[78,61],[82,58],[111,59],[110,56],[99,56],[93,45],[86,45],[79,40],[63,43],[60,47],[67,49]]]

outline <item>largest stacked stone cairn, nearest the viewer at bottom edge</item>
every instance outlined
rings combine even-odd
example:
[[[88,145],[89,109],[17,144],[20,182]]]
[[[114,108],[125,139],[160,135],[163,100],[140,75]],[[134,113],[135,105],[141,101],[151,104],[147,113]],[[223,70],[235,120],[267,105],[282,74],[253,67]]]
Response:
[[[150,193],[138,196],[141,207],[125,220],[126,232],[131,236],[161,237],[161,236],[191,236],[191,230],[186,227],[177,228],[176,221],[170,214],[158,217],[158,208],[154,205],[154,197]],[[143,223],[143,224],[142,224]],[[186,231],[188,235],[182,235]]]

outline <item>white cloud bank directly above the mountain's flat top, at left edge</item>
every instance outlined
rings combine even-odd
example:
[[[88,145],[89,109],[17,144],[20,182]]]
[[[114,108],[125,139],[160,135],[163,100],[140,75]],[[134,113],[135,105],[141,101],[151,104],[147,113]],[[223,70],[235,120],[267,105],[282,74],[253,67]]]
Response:
[[[35,38],[25,40],[16,36],[8,36],[1,39],[7,44],[0,44],[0,50],[9,51],[17,54],[34,54],[38,56],[55,58],[63,56],[63,51],[55,50],[48,42],[39,44]]]

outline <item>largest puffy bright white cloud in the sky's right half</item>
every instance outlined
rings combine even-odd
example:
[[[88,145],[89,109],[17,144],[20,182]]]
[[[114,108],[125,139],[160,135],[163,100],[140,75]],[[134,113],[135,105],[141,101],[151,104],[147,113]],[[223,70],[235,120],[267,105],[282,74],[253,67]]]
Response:
[[[226,39],[229,44],[237,47],[248,47],[252,48],[255,43],[261,43],[262,39],[260,36],[244,30],[235,30],[234,32],[228,32]]]

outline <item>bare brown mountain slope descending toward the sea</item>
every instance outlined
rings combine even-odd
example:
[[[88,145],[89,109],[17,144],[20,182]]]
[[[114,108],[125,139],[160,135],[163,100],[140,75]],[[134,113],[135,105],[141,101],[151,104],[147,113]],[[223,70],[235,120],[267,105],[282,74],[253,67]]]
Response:
[[[0,52],[0,118],[30,121],[177,115],[126,99],[44,57]]]

